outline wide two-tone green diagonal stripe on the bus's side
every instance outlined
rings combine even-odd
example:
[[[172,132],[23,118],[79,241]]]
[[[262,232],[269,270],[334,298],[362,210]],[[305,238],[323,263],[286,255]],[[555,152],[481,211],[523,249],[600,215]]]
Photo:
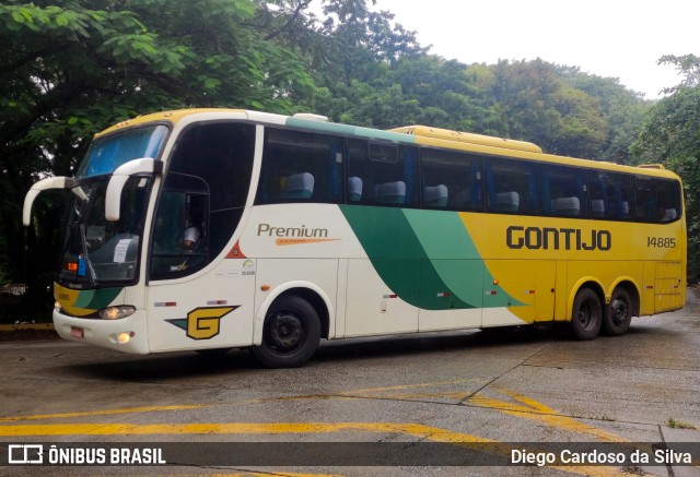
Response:
[[[493,277],[456,212],[341,205],[384,283],[425,310],[483,307]],[[489,285],[508,296],[498,285]],[[509,297],[511,306],[523,305]]]

